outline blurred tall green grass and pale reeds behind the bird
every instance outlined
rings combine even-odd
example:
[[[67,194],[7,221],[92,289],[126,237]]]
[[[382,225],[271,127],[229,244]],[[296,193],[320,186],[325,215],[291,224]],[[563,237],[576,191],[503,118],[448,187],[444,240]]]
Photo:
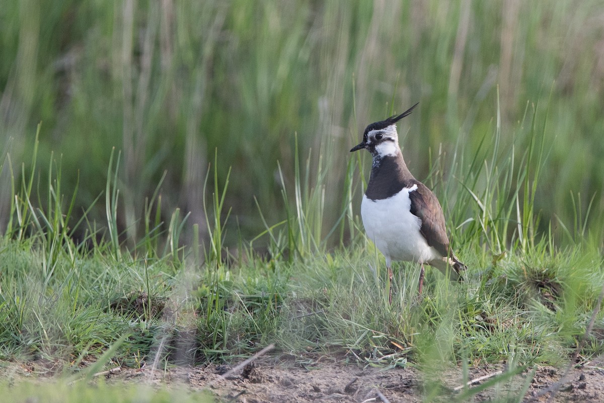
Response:
[[[320,154],[329,160],[329,230],[365,125],[419,101],[399,131],[423,180],[430,155],[478,152],[495,132],[499,101],[503,150],[527,147],[525,126],[536,112],[542,128],[547,110],[535,200],[542,229],[572,225],[594,197],[587,224],[602,240],[601,0],[8,1],[0,91],[2,230],[11,177],[29,166],[39,122],[40,181],[51,159],[68,194],[79,175],[80,212],[104,191],[112,148],[121,151],[118,218],[133,236],[164,172],[166,220],[180,207],[205,227],[216,152],[220,186],[232,167],[225,205],[234,243],[262,231],[254,197],[269,223],[283,219],[278,167],[293,186],[296,138],[311,171]],[[103,223],[100,200],[89,219]]]

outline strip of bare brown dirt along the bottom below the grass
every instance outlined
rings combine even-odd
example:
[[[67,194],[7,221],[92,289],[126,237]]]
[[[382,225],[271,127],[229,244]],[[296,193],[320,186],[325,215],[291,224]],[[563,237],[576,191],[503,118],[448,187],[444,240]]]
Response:
[[[470,369],[469,379],[485,377],[481,382],[488,382],[492,378],[487,376],[501,370],[505,370],[503,366]],[[557,392],[549,402],[604,401],[604,358],[571,369],[565,380],[559,382],[565,371],[564,368],[538,367],[524,402],[547,402],[551,397],[548,391],[556,384]],[[3,372],[4,378],[7,372]],[[12,376],[22,378],[18,372],[22,375],[25,372],[43,373],[36,368],[36,364],[12,371]],[[528,371],[520,373],[498,387],[485,389],[474,397],[474,401],[504,398],[506,393],[518,399],[518,393],[530,374]],[[229,403],[421,402],[432,392],[434,396],[439,396],[435,401],[446,402],[463,393],[463,390],[459,390],[463,376],[458,368],[443,369],[429,376],[414,367],[384,369],[344,364],[327,357],[312,361],[296,360],[291,356],[262,357],[243,367],[208,365],[173,367],[169,370],[115,367],[98,373],[97,378],[101,377],[108,382],[185,384],[192,390],[209,390],[217,402]],[[481,382],[476,382],[470,388],[480,388]]]

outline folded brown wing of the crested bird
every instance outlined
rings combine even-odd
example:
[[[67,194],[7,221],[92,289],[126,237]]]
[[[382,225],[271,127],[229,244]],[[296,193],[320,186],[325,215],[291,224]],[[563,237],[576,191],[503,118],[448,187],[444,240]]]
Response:
[[[439,200],[434,193],[419,181],[414,181],[417,189],[409,193],[411,199],[411,214],[422,220],[420,232],[443,256],[449,254],[449,238],[445,229],[445,215]]]

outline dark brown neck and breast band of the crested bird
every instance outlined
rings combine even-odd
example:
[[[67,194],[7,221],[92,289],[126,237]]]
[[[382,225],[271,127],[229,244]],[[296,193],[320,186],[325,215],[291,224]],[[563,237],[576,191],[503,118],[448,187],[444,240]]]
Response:
[[[413,177],[400,151],[394,155],[373,156],[371,176],[365,195],[371,200],[388,198],[413,186]]]

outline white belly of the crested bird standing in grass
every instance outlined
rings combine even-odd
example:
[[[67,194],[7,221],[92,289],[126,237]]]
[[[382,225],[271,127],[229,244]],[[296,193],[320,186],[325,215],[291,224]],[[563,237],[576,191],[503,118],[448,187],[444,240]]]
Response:
[[[384,254],[389,267],[393,260],[424,263],[441,258],[419,232],[420,219],[410,212],[409,192],[415,189],[416,185],[403,188],[396,195],[382,200],[363,196],[361,217],[365,232]]]

